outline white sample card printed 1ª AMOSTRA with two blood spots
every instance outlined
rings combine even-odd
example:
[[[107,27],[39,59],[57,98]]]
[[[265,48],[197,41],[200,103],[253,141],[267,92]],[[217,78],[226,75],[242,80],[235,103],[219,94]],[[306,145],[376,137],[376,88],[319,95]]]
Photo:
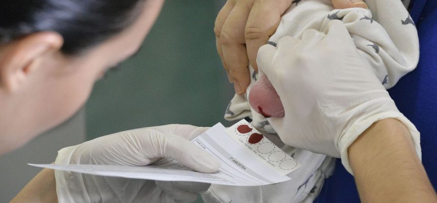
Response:
[[[235,186],[259,186],[288,181],[291,179],[286,174],[300,167],[296,160],[274,146],[244,120],[228,129],[217,123],[192,142],[220,162],[219,171],[212,174],[194,172],[169,159],[147,166],[30,165],[99,176]]]

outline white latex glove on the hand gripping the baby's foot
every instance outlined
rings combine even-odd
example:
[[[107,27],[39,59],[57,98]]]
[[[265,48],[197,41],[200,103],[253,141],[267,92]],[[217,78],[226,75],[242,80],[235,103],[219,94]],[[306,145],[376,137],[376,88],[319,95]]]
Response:
[[[352,173],[349,146],[372,123],[396,118],[409,128],[421,157],[419,132],[398,111],[341,21],[331,21],[323,32],[307,30],[300,40],[285,37],[277,47],[264,45],[257,62],[284,106],[284,117],[268,121],[285,144],[341,157]]]

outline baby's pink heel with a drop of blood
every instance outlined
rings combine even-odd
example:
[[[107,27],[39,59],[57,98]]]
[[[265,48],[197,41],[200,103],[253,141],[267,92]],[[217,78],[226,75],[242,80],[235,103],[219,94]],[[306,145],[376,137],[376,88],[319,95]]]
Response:
[[[249,104],[264,117],[284,117],[284,106],[273,85],[262,75],[249,92]]]

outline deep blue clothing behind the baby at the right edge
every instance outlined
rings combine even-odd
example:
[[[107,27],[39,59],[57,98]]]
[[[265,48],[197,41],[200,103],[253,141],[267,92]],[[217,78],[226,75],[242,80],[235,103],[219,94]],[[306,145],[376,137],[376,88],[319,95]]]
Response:
[[[416,0],[411,8],[419,33],[419,64],[389,93],[399,111],[421,132],[422,163],[437,188],[437,1]],[[354,178],[340,160],[315,202],[360,202]]]

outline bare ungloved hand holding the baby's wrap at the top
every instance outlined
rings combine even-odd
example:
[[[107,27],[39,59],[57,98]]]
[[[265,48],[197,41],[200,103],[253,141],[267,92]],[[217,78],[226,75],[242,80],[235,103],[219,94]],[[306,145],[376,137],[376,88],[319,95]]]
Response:
[[[243,94],[250,82],[248,65],[257,71],[258,49],[279,25],[280,16],[303,0],[228,0],[215,20],[217,52],[235,93]],[[362,0],[332,0],[336,9],[367,8]]]

